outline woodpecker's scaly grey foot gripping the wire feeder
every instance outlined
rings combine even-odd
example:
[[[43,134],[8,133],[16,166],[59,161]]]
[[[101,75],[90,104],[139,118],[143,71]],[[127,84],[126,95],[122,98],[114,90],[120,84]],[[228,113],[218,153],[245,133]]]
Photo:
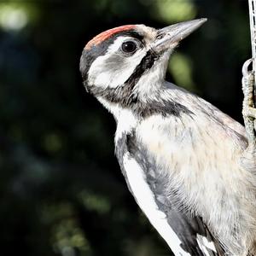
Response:
[[[247,60],[242,67],[242,90],[244,99],[242,103],[242,116],[247,131],[249,144],[256,143],[256,108],[254,108],[254,75],[249,70],[252,59]]]

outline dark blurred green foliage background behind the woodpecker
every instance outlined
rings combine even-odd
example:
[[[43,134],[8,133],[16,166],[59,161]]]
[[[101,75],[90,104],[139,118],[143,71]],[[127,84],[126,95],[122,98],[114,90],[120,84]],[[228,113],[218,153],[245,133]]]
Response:
[[[0,2],[1,255],[172,255],[113,155],[112,116],[84,92],[85,43],[113,26],[207,17],[167,78],[241,121],[246,0]]]

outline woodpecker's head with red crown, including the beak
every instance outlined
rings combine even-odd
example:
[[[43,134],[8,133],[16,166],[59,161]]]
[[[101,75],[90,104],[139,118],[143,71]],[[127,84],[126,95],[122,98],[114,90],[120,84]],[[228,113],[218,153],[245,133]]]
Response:
[[[80,72],[85,88],[97,98],[122,105],[143,101],[163,84],[169,57],[177,44],[207,19],[154,29],[119,26],[85,45]]]

